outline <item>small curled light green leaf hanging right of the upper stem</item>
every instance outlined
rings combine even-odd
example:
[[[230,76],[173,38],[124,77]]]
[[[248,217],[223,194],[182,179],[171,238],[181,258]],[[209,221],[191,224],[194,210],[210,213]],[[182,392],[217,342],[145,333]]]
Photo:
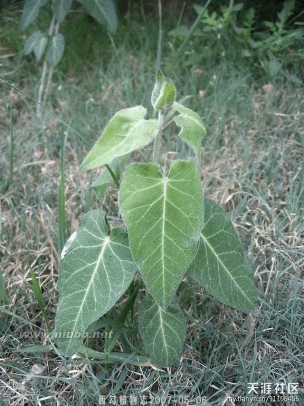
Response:
[[[178,116],[173,117],[177,127],[181,128],[178,136],[193,149],[199,161],[200,143],[206,134],[205,126],[197,113],[181,104],[173,103],[173,109],[179,113]]]

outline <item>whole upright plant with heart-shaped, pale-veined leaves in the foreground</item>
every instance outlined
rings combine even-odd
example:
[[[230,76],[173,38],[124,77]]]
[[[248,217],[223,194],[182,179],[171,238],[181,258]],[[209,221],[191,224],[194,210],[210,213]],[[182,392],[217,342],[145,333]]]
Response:
[[[127,233],[121,227],[110,229],[104,211],[93,210],[84,215],[61,252],[54,333],[66,356],[85,352],[86,330],[128,290],[123,317],[118,316],[120,321],[126,319],[141,286],[140,282],[134,288],[137,270],[145,284],[138,329],[146,351],[159,366],[175,362],[185,340],[186,324],[175,293],[186,272],[220,301],[243,311],[255,309],[253,274],[233,225],[202,193],[204,124],[198,114],[175,102],[174,85],[160,71],[151,103],[158,120],[145,120],[143,106],[118,111],[80,166],[88,170],[108,165],[119,186]],[[158,165],[160,142],[174,124],[194,159],[173,161],[164,175]],[[151,141],[152,162],[129,165],[120,183],[117,159]],[[113,341],[105,352],[109,348]]]

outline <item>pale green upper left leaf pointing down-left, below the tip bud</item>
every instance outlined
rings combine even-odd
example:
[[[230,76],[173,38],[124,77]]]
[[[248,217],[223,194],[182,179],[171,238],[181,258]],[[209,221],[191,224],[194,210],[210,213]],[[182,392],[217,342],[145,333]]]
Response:
[[[79,170],[109,164],[117,156],[151,142],[157,135],[157,120],[144,120],[146,109],[136,106],[118,111],[104,128],[98,141],[84,158]]]

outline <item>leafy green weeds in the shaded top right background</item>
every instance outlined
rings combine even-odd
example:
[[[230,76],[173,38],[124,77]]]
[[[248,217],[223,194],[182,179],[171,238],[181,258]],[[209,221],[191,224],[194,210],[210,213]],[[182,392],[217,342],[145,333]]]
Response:
[[[257,59],[258,65],[269,79],[282,72],[284,65],[290,66],[295,61],[301,63],[304,30],[299,17],[303,12],[295,15],[295,0],[285,0],[277,13],[276,21],[261,22],[259,30],[256,29],[258,22],[253,7],[246,9],[244,3],[234,4],[233,0],[230,0],[228,6],[219,5],[217,12],[210,12],[207,6],[208,3],[204,7],[193,4],[197,18],[191,27],[181,25],[168,33],[169,36],[183,39],[177,56],[181,53],[184,57],[191,54],[191,47],[187,47],[184,52],[183,45],[193,37],[192,49],[195,52],[192,52],[190,60],[194,64],[200,63],[213,47],[220,49],[222,53],[233,49],[236,54],[240,48],[233,40],[241,43],[242,54]],[[202,52],[204,42],[206,46]],[[300,83],[291,75],[287,76],[288,79]]]

